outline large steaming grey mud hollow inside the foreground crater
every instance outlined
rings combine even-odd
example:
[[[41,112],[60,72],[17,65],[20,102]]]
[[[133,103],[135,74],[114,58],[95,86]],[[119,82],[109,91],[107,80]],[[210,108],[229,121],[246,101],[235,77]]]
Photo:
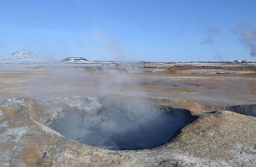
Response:
[[[70,105],[70,101],[76,105]],[[196,119],[188,110],[129,96],[65,98],[63,106],[51,125],[54,130],[83,144],[116,150],[157,147]]]

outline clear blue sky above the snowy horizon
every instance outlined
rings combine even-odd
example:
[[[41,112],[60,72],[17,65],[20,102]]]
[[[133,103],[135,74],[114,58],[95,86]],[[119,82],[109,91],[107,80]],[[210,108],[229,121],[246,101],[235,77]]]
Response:
[[[256,60],[256,0],[1,0],[0,54]]]

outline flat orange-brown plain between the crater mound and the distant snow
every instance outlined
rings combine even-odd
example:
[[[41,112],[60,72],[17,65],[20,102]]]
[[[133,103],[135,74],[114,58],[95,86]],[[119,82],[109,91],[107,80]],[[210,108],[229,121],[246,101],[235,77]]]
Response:
[[[181,73],[183,70],[191,69],[194,70],[192,73]],[[199,69],[224,69],[223,72],[229,70],[229,73],[196,73]],[[254,104],[256,101],[256,67],[190,65],[139,70],[127,71],[122,67],[110,67],[109,71],[98,67],[95,71],[93,68],[41,66],[28,67],[20,71],[2,70],[0,101],[13,97],[103,94],[175,97],[200,104],[225,106]],[[239,73],[240,71],[251,73]]]

